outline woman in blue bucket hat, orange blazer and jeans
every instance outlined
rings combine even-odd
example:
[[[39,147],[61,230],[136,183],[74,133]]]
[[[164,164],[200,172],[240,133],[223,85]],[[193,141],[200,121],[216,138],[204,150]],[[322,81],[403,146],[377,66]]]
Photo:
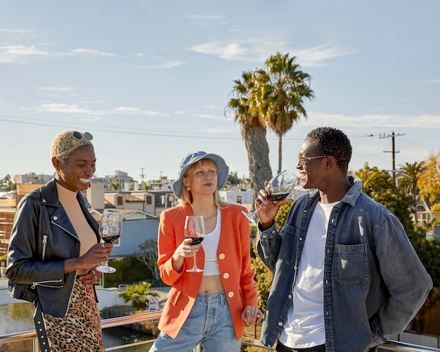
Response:
[[[212,153],[193,152],[179,164],[172,187],[179,204],[162,211],[157,237],[162,280],[172,286],[153,351],[240,351],[247,325],[263,320],[250,268],[249,221],[240,204],[220,200],[228,165]],[[190,245],[186,216],[203,216],[205,238]],[[188,272],[196,256],[202,272]]]

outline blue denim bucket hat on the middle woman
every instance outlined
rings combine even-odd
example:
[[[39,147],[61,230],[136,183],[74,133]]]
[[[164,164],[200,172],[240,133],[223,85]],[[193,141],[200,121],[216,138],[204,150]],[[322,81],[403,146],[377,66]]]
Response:
[[[180,198],[182,195],[183,187],[183,175],[192,164],[200,161],[201,159],[211,159],[217,168],[217,190],[221,190],[226,184],[229,175],[229,167],[226,165],[224,159],[216,154],[206,152],[191,152],[182,159],[179,164],[179,178],[173,182],[173,192],[176,197]]]

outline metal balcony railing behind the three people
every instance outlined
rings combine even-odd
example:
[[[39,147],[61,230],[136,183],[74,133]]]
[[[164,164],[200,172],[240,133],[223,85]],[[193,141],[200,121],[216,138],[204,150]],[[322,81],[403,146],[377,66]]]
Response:
[[[162,312],[153,312],[153,313],[143,313],[143,314],[136,314],[136,315],[127,315],[124,317],[119,318],[110,318],[110,319],[103,319],[101,320],[101,325],[103,329],[107,329],[109,327],[117,327],[117,326],[124,326],[124,325],[130,325],[134,324],[135,322],[143,322],[148,320],[157,320],[160,318],[160,315]],[[256,338],[256,337],[255,337]],[[18,341],[24,341],[32,339],[32,344],[34,346],[33,351],[39,352],[39,346],[37,341],[37,333],[35,331],[26,331],[26,332],[15,332],[12,334],[4,334],[0,335],[0,349],[1,346],[4,344],[11,344],[13,342]],[[129,346],[138,346],[142,344],[148,344],[150,342],[153,342],[155,339],[150,340],[144,340],[144,341],[136,341],[132,342],[130,344],[122,344],[118,346],[112,346],[105,348],[105,351],[114,351],[119,348],[127,348]],[[439,340],[440,343],[440,340]],[[255,346],[259,347],[261,349],[267,350],[267,351],[274,351],[272,348],[266,348],[264,346],[261,346],[260,344],[255,344],[247,341],[242,341],[243,345],[246,346]],[[440,346],[439,346],[440,347]],[[198,351],[199,349],[196,348],[195,351]],[[415,344],[406,344],[399,341],[388,341],[386,344],[383,344],[380,346],[379,351],[392,351],[392,352],[432,352],[437,351],[440,352],[440,348],[433,348],[433,347],[425,347],[425,346],[418,346]]]

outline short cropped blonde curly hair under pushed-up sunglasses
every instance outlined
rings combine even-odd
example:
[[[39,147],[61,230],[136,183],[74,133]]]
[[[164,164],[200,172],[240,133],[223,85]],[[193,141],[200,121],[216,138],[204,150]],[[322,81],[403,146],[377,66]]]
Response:
[[[81,135],[81,138],[76,137],[78,133]],[[88,133],[88,136],[91,136],[90,133]],[[51,157],[56,157],[64,164],[70,153],[83,145],[91,145],[93,147],[91,138],[86,137],[84,133],[73,130],[60,132],[55,136],[55,138],[53,138],[51,145]]]

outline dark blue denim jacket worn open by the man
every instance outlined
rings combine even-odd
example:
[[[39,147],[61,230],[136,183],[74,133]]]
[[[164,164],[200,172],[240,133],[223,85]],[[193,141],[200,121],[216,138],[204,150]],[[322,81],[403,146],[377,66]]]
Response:
[[[330,214],[325,242],[325,351],[361,352],[402,332],[432,289],[431,277],[400,221],[352,186]],[[273,346],[292,306],[292,292],[318,191],[300,197],[278,233],[257,235],[257,251],[273,272],[261,343]]]

